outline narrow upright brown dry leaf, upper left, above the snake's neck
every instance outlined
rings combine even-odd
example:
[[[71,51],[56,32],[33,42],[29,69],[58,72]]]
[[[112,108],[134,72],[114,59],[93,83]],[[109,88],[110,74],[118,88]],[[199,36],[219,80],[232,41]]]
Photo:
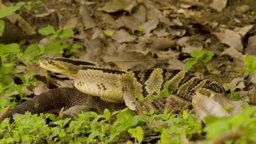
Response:
[[[96,26],[94,20],[91,18],[90,14],[88,13],[86,5],[80,6],[80,15],[82,16],[85,29],[90,29]]]

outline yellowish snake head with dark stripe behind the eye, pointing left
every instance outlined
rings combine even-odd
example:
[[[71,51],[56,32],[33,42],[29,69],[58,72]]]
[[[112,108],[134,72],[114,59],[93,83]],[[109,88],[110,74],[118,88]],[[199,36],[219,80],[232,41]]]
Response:
[[[54,73],[77,76],[78,71],[86,65],[98,65],[97,63],[81,59],[62,57],[43,57],[39,60],[39,66]]]

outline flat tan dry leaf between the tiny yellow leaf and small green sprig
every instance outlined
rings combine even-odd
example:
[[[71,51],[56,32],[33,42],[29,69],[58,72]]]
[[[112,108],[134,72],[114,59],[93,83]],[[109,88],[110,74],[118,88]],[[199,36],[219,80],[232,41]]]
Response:
[[[117,40],[118,43],[125,43],[135,40],[136,38],[127,33],[124,29],[120,29],[112,35],[112,39]]]

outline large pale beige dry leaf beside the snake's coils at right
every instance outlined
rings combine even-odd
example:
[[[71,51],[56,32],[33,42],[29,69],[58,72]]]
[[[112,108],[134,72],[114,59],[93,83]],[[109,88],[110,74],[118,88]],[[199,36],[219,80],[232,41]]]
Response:
[[[214,115],[217,117],[230,116],[230,114],[214,99],[207,97],[201,93],[193,95],[192,105],[195,113],[201,121],[208,115]]]

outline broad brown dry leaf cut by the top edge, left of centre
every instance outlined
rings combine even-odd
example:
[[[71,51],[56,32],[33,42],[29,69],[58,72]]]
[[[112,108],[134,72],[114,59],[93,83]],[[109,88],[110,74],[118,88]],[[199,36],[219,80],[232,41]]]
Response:
[[[136,1],[134,0],[111,0],[107,2],[102,8],[98,10],[106,11],[107,13],[114,13],[119,10],[130,11],[135,7]]]

